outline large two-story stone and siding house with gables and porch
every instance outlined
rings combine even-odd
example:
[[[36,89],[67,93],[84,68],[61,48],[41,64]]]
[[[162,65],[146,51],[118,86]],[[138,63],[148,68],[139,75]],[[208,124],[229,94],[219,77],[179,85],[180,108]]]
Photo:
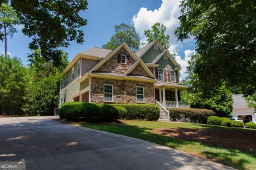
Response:
[[[138,52],[127,44],[115,50],[90,48],[75,56],[64,69],[60,105],[67,101],[89,103],[146,103],[187,107],[180,92],[181,67],[159,41]],[[158,103],[158,104],[160,104]]]

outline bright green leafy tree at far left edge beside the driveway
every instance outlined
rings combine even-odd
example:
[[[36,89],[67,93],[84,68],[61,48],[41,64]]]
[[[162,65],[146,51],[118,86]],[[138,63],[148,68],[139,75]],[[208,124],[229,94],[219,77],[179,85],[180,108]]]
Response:
[[[8,55],[0,56],[0,114],[22,114],[20,107],[28,86],[28,69],[22,61]]]

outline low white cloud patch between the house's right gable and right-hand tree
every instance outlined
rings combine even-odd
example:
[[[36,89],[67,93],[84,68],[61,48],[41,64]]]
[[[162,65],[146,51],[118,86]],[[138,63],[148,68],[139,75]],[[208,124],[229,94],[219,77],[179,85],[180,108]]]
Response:
[[[191,59],[191,56],[193,56],[196,53],[195,50],[185,50],[184,51],[184,58],[182,59],[181,56],[177,55],[175,56],[175,60],[181,65],[181,80],[186,77],[186,67],[188,67],[188,61]]]

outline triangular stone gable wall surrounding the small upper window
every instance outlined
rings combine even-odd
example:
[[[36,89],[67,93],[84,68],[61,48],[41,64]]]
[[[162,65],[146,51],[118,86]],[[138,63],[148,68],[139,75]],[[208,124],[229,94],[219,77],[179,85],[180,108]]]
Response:
[[[126,64],[121,63],[120,59],[118,59],[119,54],[124,54],[127,56]],[[108,72],[108,73],[125,73],[131,65],[135,63],[135,59],[130,56],[129,52],[125,50],[125,48],[121,48],[114,56],[112,56],[108,61],[106,61],[97,71]]]

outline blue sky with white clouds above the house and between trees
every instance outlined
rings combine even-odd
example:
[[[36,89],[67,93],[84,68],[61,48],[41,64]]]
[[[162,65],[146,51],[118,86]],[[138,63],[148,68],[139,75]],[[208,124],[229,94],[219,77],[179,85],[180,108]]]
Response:
[[[171,54],[175,53],[175,59],[181,65],[181,75],[184,78],[186,66],[190,56],[194,54],[195,41],[177,41],[174,35],[175,29],[179,26],[178,17],[180,0],[88,0],[87,10],[80,12],[80,16],[87,19],[87,25],[81,27],[85,33],[83,44],[70,42],[68,48],[60,48],[68,52],[71,61],[76,54],[83,52],[93,46],[102,47],[110,41],[114,32],[114,25],[125,23],[133,25],[139,33],[141,41],[146,42],[144,30],[150,29],[156,22],[165,25],[166,34],[170,35],[168,49]],[[7,38],[8,53],[11,57],[17,56],[22,59],[24,65],[30,63],[28,54],[32,51],[28,44],[32,41],[22,33],[22,25],[16,25],[18,33]],[[141,46],[142,47],[142,46]],[[5,44],[0,42],[0,53],[5,52]]]

